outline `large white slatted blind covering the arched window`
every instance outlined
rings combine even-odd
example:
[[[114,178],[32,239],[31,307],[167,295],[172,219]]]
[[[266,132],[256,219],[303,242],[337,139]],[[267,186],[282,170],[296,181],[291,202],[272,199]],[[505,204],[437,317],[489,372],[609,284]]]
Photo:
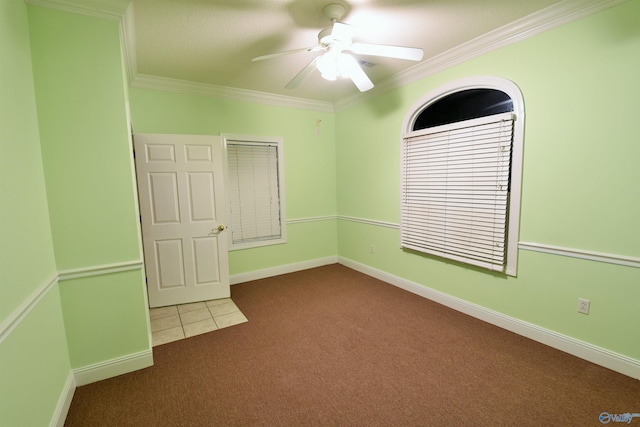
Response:
[[[504,271],[512,113],[412,132],[403,140],[403,248]]]

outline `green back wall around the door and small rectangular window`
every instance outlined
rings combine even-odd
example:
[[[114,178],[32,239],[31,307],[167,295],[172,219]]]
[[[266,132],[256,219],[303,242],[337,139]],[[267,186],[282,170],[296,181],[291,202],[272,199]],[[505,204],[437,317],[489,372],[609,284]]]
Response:
[[[130,89],[135,132],[279,136],[288,219],[336,215],[334,114],[204,95]],[[317,120],[320,120],[319,126]],[[335,220],[287,225],[287,243],[229,254],[230,274],[335,256]]]

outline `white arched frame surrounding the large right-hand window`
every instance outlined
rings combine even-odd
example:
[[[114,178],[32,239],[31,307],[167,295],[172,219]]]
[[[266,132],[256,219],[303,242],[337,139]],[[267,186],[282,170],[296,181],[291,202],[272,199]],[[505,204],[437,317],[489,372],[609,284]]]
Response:
[[[511,147],[511,175],[508,208],[508,228],[506,245],[506,262],[504,274],[509,276],[517,275],[518,264],[518,239],[520,229],[520,201],[522,192],[522,162],[523,162],[523,146],[524,146],[524,101],[522,92],[518,86],[507,79],[494,76],[476,76],[466,77],[454,80],[442,86],[439,86],[426,93],[418,101],[416,101],[407,111],[402,123],[401,139],[400,139],[400,159],[402,159],[402,150],[405,138],[413,131],[414,124],[418,116],[430,105],[440,99],[468,89],[495,89],[506,93],[513,101],[513,115],[515,117],[513,127],[513,142]],[[402,167],[402,165],[401,165]],[[402,187],[402,177],[400,180]],[[402,188],[400,189],[402,195]]]

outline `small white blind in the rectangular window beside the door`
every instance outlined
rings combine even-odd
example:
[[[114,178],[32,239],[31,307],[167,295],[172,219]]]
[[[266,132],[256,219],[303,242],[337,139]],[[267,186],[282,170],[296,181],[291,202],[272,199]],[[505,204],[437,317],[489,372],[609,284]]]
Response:
[[[278,144],[227,141],[233,244],[280,239]]]

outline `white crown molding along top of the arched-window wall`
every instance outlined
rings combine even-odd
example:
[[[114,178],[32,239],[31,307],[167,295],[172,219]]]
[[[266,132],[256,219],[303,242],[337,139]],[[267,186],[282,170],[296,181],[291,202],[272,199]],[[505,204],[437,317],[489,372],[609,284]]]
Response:
[[[335,110],[340,111],[352,107],[375,96],[444,71],[472,58],[525,40],[596,12],[626,3],[627,1],[629,0],[561,1],[431,57],[407,70],[376,83],[375,88],[370,91],[358,93],[336,101],[334,104]]]

